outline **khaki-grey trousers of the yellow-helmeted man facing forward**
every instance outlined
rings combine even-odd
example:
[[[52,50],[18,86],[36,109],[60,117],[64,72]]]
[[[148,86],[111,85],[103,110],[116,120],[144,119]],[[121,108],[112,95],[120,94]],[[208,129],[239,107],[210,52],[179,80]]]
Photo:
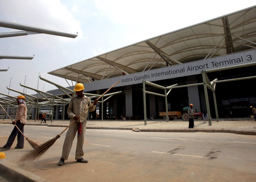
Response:
[[[83,122],[82,132],[77,137],[75,159],[81,159],[83,157],[83,142],[84,142],[85,130],[86,130],[86,121]],[[61,158],[63,158],[64,160],[68,159],[68,155],[70,153],[76,134],[77,134],[77,124],[75,122],[68,128],[67,134],[65,136],[65,141],[63,144],[62,155],[61,155]]]

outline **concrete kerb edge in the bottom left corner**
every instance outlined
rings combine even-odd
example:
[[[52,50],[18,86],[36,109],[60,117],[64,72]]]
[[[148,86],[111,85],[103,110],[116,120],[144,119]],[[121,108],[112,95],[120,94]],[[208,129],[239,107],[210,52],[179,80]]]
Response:
[[[8,176],[11,176],[12,179],[15,178],[16,181],[20,182],[48,182],[46,179],[25,171],[5,159],[0,159],[0,171],[3,177],[8,179]]]

